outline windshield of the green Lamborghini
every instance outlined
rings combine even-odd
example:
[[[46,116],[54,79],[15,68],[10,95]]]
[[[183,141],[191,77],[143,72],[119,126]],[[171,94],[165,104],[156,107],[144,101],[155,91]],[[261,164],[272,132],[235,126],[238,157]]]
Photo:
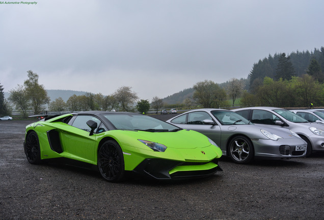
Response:
[[[176,131],[179,127],[168,124],[164,121],[136,114],[104,114],[116,129],[145,130],[145,131]]]

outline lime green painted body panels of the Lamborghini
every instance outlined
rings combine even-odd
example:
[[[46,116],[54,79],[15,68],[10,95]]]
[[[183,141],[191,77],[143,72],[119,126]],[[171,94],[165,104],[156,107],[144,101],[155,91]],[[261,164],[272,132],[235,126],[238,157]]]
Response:
[[[134,170],[146,158],[161,158],[173,161],[202,162],[205,164],[193,166],[178,166],[169,173],[178,171],[209,170],[218,166],[211,162],[222,156],[219,147],[211,145],[208,138],[193,130],[180,130],[176,132],[147,132],[136,130],[110,130],[89,135],[88,131],[70,126],[58,121],[70,114],[62,115],[47,121],[38,121],[26,126],[26,135],[32,130],[36,131],[41,159],[66,157],[91,164],[97,164],[98,147],[109,139],[115,140],[120,145],[123,155],[125,170]],[[59,135],[63,152],[57,153],[50,148],[47,131],[56,130]],[[146,140],[167,147],[165,152],[153,151],[142,142]]]

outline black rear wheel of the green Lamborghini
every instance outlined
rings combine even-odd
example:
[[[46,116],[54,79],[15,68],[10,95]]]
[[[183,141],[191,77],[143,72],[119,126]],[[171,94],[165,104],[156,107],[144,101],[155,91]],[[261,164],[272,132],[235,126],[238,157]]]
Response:
[[[40,147],[38,136],[35,131],[31,131],[27,136],[24,144],[24,151],[27,160],[32,164],[38,164],[41,162],[40,159]]]

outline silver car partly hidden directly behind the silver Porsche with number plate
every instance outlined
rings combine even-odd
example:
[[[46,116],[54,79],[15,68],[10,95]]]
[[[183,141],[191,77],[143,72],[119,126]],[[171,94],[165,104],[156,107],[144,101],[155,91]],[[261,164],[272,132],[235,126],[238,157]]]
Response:
[[[324,151],[324,125],[311,123],[306,119],[278,107],[247,107],[232,110],[254,124],[268,127],[283,127],[297,133],[307,142],[309,156],[315,151]]]

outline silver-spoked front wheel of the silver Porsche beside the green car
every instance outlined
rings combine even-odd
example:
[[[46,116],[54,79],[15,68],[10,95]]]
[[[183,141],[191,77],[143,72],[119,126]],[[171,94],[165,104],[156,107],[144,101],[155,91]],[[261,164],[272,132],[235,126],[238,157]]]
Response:
[[[228,146],[229,156],[236,163],[245,164],[254,157],[252,142],[245,136],[234,137]]]

